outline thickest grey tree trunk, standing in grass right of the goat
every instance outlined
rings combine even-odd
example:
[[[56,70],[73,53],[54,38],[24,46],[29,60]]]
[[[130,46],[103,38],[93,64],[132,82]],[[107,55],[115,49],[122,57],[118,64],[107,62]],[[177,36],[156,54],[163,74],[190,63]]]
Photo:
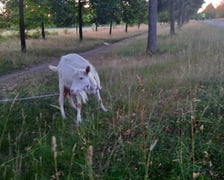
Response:
[[[148,1],[148,42],[146,53],[153,54],[157,48],[157,0]]]

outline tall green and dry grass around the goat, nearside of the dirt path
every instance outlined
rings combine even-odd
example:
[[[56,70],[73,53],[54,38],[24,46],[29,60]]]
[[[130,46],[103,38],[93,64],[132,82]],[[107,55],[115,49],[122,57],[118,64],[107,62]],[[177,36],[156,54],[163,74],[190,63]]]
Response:
[[[61,120],[55,97],[1,104],[2,178],[222,179],[223,31],[191,22],[160,35],[153,57],[144,39],[102,55],[110,111],[90,98],[79,126],[67,103]],[[55,91],[50,77],[11,96]]]

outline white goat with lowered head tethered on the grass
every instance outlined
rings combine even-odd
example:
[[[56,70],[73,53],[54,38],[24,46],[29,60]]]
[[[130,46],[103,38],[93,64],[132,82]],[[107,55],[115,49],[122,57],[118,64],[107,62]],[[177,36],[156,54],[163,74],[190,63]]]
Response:
[[[68,98],[70,105],[77,110],[77,122],[82,121],[81,104],[88,100],[87,94],[95,94],[100,107],[104,107],[100,96],[100,79],[94,66],[78,54],[62,56],[58,66],[49,65],[59,75],[59,104],[62,118],[65,119],[64,97]],[[73,102],[72,95],[76,96],[77,105]]]

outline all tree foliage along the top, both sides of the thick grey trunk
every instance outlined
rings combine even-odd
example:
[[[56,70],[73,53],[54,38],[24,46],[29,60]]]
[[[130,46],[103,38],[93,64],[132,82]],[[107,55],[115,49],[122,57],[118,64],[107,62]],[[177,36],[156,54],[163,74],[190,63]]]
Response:
[[[175,0],[176,16],[184,15],[184,21],[189,19],[202,4],[202,0]],[[18,27],[18,1],[4,1],[6,8],[0,15],[0,27]],[[77,19],[77,3],[72,0],[24,0],[26,29],[39,27],[44,21],[45,25],[57,27],[74,26]],[[158,1],[158,10],[163,13],[169,10],[169,1]],[[147,2],[145,0],[116,0],[100,1],[90,0],[90,7],[84,11],[84,24],[109,24],[111,20],[131,23],[143,23],[147,20]],[[181,12],[181,13],[180,13]],[[165,15],[165,13],[163,13]],[[163,16],[164,18],[168,18]],[[98,26],[97,25],[97,26]]]

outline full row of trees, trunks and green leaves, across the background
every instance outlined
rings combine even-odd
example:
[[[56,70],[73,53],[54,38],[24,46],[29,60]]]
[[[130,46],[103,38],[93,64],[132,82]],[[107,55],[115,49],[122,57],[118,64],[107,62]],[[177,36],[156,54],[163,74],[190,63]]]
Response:
[[[156,42],[156,24],[170,23],[170,33],[175,33],[175,22],[180,28],[197,12],[203,0],[2,0],[5,5],[0,14],[0,28],[20,29],[22,51],[25,47],[25,29],[41,27],[79,27],[82,40],[82,26],[110,26],[125,24],[125,31],[132,24],[149,24],[149,41]],[[19,23],[18,23],[19,22]],[[22,40],[23,39],[23,40]],[[152,41],[153,42],[153,41]],[[148,43],[150,44],[150,43]],[[156,50],[154,43],[151,52]]]

